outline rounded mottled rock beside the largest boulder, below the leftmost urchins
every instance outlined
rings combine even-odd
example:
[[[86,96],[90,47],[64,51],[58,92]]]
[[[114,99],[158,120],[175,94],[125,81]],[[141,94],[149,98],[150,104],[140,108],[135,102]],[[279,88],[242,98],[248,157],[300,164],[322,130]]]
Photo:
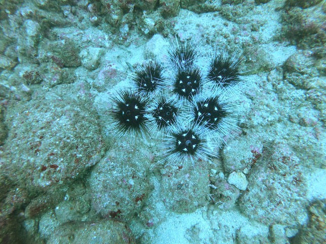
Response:
[[[96,211],[124,220],[140,212],[153,188],[148,180],[152,160],[143,142],[116,141],[88,180]]]

